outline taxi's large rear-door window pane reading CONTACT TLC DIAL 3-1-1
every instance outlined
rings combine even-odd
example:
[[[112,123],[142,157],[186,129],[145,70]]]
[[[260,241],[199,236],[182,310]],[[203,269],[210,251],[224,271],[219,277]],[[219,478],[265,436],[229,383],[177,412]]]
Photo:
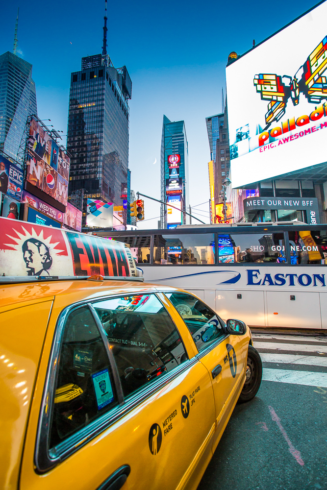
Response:
[[[154,294],[107,299],[93,306],[125,397],[188,359],[175,324]]]

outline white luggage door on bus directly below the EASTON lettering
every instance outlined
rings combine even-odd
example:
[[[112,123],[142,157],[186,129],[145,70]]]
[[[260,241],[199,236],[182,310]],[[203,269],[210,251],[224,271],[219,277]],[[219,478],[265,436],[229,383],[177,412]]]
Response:
[[[322,328],[319,293],[267,291],[268,326]]]

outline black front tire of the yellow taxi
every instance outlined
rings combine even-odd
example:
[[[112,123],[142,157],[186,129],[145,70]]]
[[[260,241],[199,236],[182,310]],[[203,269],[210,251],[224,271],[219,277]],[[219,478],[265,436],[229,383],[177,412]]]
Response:
[[[249,345],[246,379],[237,403],[252,400],[260,388],[262,379],[262,361],[259,352]]]

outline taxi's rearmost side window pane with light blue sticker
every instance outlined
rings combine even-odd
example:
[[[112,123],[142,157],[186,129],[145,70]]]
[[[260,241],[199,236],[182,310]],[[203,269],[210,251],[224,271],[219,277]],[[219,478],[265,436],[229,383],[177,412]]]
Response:
[[[73,310],[62,333],[51,420],[54,447],[117,404],[109,359],[88,307]]]

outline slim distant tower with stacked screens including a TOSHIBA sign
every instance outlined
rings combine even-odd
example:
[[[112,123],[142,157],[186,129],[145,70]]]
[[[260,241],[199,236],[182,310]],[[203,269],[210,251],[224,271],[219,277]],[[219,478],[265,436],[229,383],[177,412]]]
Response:
[[[161,200],[171,201],[175,207],[189,212],[188,145],[184,121],[171,122],[164,116],[161,138]],[[177,202],[178,201],[178,202]],[[176,228],[188,224],[189,217],[183,212],[179,217],[174,208],[161,204],[161,228]]]

